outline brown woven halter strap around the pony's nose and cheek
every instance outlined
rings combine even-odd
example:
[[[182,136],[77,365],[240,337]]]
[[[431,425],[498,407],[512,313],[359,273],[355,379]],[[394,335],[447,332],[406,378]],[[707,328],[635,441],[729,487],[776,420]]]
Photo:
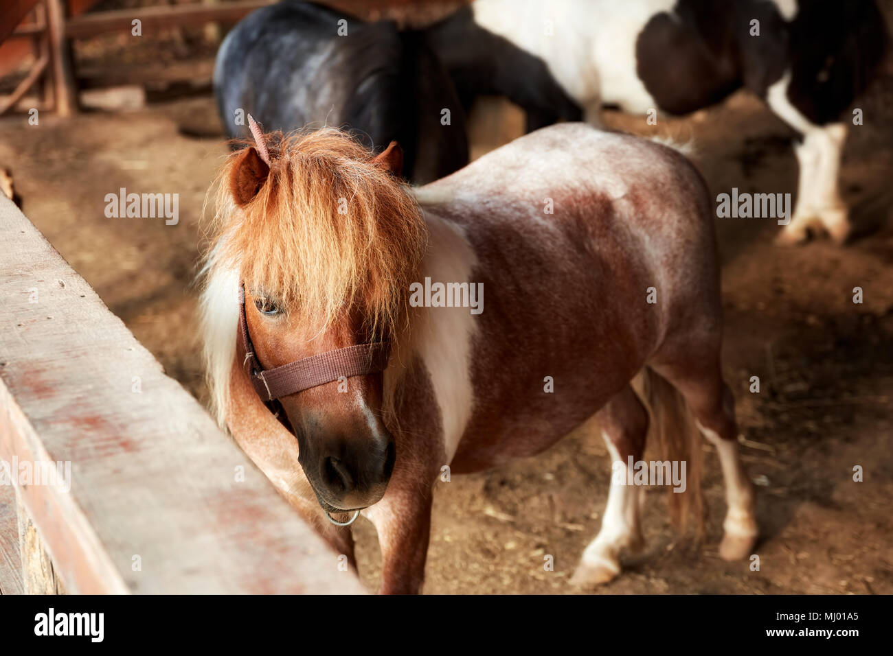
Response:
[[[264,403],[271,403],[288,394],[297,394],[311,387],[331,383],[342,376],[366,376],[385,370],[390,355],[389,342],[371,342],[311,355],[280,367],[264,370],[257,360],[255,347],[248,333],[245,315],[245,286],[240,286],[238,334],[245,349],[248,376]]]

